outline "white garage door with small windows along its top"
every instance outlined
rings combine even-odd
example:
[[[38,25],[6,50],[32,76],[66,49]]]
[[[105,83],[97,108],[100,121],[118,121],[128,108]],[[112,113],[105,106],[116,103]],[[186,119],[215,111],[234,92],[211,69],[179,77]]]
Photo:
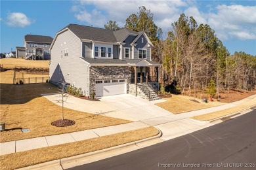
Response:
[[[126,80],[102,80],[96,81],[96,97],[126,94]]]

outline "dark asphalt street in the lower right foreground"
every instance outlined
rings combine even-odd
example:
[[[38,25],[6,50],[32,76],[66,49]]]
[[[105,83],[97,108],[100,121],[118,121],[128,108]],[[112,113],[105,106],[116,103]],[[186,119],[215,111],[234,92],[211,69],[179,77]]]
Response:
[[[256,169],[256,110],[188,135],[72,169],[192,168]]]

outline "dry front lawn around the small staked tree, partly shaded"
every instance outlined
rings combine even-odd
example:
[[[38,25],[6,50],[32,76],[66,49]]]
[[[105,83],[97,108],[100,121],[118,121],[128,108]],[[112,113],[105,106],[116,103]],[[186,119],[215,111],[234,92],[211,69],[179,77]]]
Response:
[[[51,122],[61,118],[62,107],[47,100],[41,94],[58,92],[56,86],[49,83],[6,84],[2,82],[1,78],[0,89],[0,122],[6,122],[7,129],[7,131],[0,133],[1,143],[130,122],[65,108],[64,118],[75,120],[75,125],[54,127],[51,126]],[[30,133],[22,133],[22,128],[30,128],[31,131]]]

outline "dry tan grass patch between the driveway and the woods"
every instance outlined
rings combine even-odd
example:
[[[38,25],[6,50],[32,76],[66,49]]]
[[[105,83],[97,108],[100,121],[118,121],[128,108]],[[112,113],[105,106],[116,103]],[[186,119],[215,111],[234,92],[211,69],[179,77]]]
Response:
[[[191,100],[196,100],[197,102],[191,101]],[[202,102],[201,99],[196,99],[194,97],[188,97],[186,95],[173,95],[170,98],[165,98],[165,102],[163,103],[158,103],[159,107],[168,110],[169,112],[173,112],[174,114],[179,114],[182,112],[190,112],[193,110],[200,110],[200,109],[205,109],[209,107],[215,107],[219,105],[223,105],[224,103],[218,102],[218,101],[213,101],[209,103],[204,103]]]

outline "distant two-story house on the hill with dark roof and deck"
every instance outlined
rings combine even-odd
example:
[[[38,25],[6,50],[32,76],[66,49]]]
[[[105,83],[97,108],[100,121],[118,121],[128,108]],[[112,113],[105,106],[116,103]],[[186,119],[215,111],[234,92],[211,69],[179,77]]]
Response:
[[[51,59],[49,50],[53,38],[43,35],[25,35],[26,59]]]

